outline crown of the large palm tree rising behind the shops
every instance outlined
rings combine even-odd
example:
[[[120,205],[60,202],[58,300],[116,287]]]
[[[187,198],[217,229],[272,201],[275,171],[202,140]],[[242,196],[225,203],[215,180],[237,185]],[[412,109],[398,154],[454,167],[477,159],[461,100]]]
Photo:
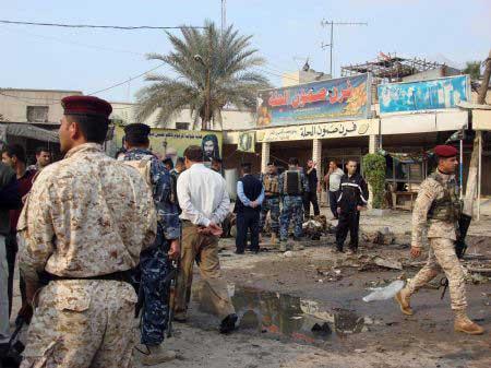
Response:
[[[203,29],[181,28],[182,37],[167,33],[173,50],[168,55],[151,54],[177,74],[148,75],[153,82],[136,94],[136,117],[140,121],[158,110],[156,123],[165,126],[182,109],[189,108],[194,129],[221,126],[225,106],[252,109],[256,91],[268,87],[267,79],[253,70],[264,60],[251,48],[252,36],[241,36],[229,26],[220,33],[213,22]]]

